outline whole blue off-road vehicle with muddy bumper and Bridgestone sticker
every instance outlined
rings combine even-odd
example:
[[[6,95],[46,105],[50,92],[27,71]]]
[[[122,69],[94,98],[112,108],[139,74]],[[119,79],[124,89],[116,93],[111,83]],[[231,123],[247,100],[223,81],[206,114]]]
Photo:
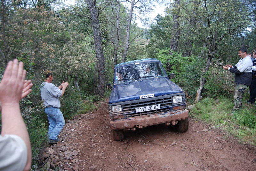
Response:
[[[116,65],[108,102],[114,140],[124,139],[124,130],[157,124],[174,125],[179,132],[188,130],[185,93],[170,79],[157,59]]]

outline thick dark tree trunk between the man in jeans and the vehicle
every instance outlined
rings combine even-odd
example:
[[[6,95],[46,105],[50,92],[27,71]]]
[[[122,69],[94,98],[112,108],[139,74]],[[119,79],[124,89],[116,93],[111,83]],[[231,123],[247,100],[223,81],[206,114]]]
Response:
[[[94,37],[94,46],[96,51],[96,58],[98,60],[98,82],[97,89],[95,90],[95,95],[100,97],[104,96],[105,91],[105,60],[102,49],[102,36],[100,33],[100,23],[99,23],[99,9],[96,8],[95,0],[86,0],[88,8],[90,10],[90,16],[92,19],[92,29],[93,29],[93,37]]]

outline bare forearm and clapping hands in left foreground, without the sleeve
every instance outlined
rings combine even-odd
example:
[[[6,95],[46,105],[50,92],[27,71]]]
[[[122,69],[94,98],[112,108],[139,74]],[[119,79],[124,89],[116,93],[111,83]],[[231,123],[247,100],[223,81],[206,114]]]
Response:
[[[17,59],[10,61],[5,69],[0,83],[0,101],[2,106],[1,135],[12,134],[19,136],[27,147],[27,163],[24,170],[31,167],[31,146],[28,130],[20,113],[19,101],[31,92],[31,81],[25,81],[26,71],[23,63]],[[23,91],[23,92],[22,92]]]

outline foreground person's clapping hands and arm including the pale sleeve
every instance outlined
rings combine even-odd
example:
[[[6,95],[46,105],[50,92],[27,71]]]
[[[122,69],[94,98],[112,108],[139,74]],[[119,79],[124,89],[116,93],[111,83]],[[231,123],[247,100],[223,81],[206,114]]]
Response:
[[[0,83],[2,131],[0,135],[0,170],[29,170],[31,146],[27,127],[20,113],[20,100],[30,93],[31,80],[17,59],[6,66]]]

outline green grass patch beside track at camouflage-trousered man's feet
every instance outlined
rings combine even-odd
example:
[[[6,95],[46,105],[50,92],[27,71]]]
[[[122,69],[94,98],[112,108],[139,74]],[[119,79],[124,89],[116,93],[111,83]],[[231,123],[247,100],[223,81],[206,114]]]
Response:
[[[244,98],[243,107],[235,111],[232,116],[234,102],[232,99],[220,96],[218,99],[204,98],[196,104],[189,115],[202,120],[211,126],[219,127],[225,131],[224,138],[237,138],[239,142],[256,144],[256,106],[246,104]]]

